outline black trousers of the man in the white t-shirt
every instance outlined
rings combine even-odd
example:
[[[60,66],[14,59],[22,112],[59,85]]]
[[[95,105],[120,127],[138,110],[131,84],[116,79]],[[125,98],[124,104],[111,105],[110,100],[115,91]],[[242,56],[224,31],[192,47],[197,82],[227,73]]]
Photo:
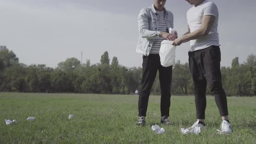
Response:
[[[220,115],[228,115],[226,93],[222,88],[220,73],[220,47],[210,46],[206,49],[188,52],[188,55],[194,82],[197,119],[205,119],[207,83],[215,96]]]

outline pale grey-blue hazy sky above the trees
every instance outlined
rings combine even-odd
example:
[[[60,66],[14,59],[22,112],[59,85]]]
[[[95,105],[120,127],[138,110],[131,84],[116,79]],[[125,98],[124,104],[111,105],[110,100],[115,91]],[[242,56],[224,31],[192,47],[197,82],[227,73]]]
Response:
[[[221,66],[230,66],[239,57],[243,63],[256,54],[254,43],[255,0],[212,0],[219,10],[218,33]],[[21,63],[46,64],[75,57],[91,64],[100,62],[108,51],[120,65],[142,67],[142,56],[135,52],[138,42],[138,13],[154,0],[0,0],[0,45],[13,50]],[[167,0],[165,7],[174,14],[178,35],[187,32],[185,0]],[[189,43],[176,49],[176,60],[188,62]]]

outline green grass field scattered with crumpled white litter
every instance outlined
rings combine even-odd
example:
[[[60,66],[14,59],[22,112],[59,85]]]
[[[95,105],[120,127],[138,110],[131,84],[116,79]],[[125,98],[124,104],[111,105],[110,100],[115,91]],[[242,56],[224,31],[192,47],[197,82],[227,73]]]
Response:
[[[219,135],[221,118],[214,97],[207,97],[207,131],[181,134],[195,121],[193,96],[172,96],[171,126],[164,134],[151,130],[160,123],[160,96],[150,96],[146,126],[138,127],[137,95],[0,93],[0,144],[129,143],[255,144],[256,97],[229,97],[233,133]],[[69,115],[75,115],[68,119]],[[26,121],[33,116],[35,121]],[[6,125],[4,119],[17,124]]]

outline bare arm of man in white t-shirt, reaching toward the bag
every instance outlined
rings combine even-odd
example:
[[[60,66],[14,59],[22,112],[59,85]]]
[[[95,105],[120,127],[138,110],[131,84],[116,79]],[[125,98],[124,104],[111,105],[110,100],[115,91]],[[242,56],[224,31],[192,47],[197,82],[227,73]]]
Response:
[[[213,27],[215,18],[216,17],[212,15],[204,15],[202,18],[202,27],[200,29],[197,29],[193,33],[187,33],[180,38],[175,39],[173,45],[180,46],[181,43],[184,43],[186,41],[198,39],[202,36],[207,36],[210,32],[210,29]]]

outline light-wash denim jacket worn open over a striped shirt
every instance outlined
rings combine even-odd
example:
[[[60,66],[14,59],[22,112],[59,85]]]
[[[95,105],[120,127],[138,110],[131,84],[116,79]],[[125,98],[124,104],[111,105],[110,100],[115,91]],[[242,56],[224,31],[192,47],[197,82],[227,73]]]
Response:
[[[165,23],[167,29],[173,28],[173,14],[164,8]],[[148,56],[154,39],[159,37],[158,31],[158,13],[154,9],[154,4],[151,7],[143,8],[138,15],[139,39],[136,47],[136,52]]]

